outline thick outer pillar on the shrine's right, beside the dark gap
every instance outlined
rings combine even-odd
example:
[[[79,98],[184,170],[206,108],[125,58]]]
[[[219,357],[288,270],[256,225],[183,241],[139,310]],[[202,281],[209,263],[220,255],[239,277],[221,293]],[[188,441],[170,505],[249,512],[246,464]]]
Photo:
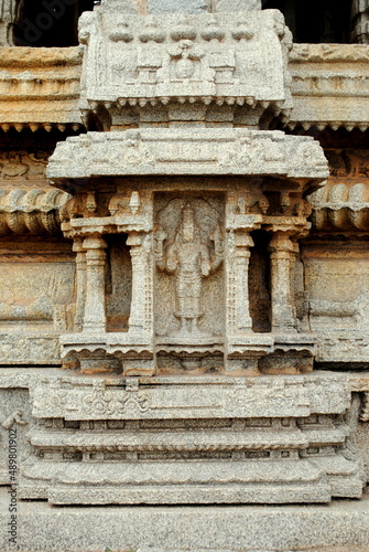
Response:
[[[272,329],[291,332],[296,329],[293,294],[293,266],[296,248],[285,232],[273,233],[271,252]]]

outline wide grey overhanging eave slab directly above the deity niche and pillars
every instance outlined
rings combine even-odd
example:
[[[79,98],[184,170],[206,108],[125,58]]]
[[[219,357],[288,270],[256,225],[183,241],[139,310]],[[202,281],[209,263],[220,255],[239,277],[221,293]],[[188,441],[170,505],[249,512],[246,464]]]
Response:
[[[59,142],[47,167],[47,177],[65,188],[68,179],[129,174],[275,174],[322,181],[328,170],[322,148],[310,137],[230,128],[88,132]]]

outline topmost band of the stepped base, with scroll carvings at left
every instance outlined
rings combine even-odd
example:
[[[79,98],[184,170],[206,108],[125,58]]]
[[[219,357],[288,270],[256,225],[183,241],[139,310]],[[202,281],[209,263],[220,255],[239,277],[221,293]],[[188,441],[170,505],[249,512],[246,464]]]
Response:
[[[127,386],[128,381],[118,380],[110,389],[94,379],[78,386],[35,385],[33,416],[69,421],[299,417],[344,413],[350,404],[348,382],[332,375],[259,376],[250,379],[252,386],[245,378],[227,376],[140,379],[134,389]]]

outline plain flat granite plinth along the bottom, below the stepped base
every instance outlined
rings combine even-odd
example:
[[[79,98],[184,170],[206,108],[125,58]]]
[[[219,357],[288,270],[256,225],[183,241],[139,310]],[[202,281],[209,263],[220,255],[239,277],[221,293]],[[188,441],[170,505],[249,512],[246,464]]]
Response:
[[[0,550],[11,549],[7,488]],[[330,506],[51,507],[19,502],[19,551],[368,552],[369,496]]]

